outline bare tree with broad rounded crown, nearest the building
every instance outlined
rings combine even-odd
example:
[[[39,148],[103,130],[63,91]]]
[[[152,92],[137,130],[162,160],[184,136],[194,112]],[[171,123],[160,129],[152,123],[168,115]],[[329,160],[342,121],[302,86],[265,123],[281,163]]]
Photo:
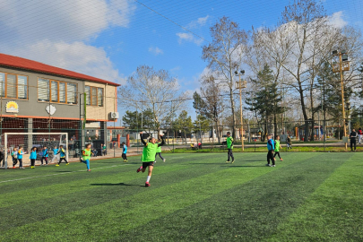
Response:
[[[177,79],[168,71],[156,71],[148,65],[137,67],[128,77],[127,84],[118,91],[119,102],[134,108],[150,108],[153,121],[160,134],[160,125],[184,104],[185,92],[179,91]],[[171,103],[169,102],[170,100]]]

